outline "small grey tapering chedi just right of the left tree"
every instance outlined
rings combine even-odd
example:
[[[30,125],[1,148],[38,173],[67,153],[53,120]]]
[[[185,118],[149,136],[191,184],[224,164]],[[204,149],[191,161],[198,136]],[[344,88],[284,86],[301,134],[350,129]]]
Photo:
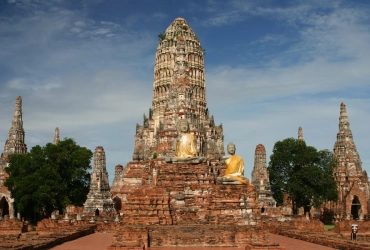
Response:
[[[90,191],[84,204],[84,214],[115,212],[110,193],[108,172],[106,169],[105,152],[101,146],[94,153],[94,170],[91,173]]]

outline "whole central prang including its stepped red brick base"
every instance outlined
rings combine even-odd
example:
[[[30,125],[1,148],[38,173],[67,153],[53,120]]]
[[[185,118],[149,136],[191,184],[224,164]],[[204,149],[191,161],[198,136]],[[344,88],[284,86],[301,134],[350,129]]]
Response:
[[[245,180],[242,159],[230,164],[230,173],[219,160],[222,127],[214,126],[206,109],[199,41],[182,18],[163,37],[153,109],[137,126],[133,161],[115,168],[111,193],[120,227],[113,246],[244,247],[263,240],[255,188],[239,181]],[[219,183],[219,177],[234,183]]]

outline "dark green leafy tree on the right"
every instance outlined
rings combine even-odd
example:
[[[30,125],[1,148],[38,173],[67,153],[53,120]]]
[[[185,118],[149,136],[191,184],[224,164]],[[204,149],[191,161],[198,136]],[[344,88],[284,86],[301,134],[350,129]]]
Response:
[[[287,193],[293,208],[336,201],[337,183],[333,178],[336,164],[333,153],[317,151],[302,140],[287,138],[276,142],[268,166],[275,200],[281,205]]]

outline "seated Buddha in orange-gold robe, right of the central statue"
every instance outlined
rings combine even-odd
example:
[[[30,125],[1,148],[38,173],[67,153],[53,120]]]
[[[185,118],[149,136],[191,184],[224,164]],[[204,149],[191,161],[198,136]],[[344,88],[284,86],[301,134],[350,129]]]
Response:
[[[235,144],[230,142],[227,144],[228,155],[222,160],[225,161],[226,172],[223,177],[217,178],[219,184],[244,184],[250,185],[248,178],[244,176],[244,161],[240,156],[235,155]]]

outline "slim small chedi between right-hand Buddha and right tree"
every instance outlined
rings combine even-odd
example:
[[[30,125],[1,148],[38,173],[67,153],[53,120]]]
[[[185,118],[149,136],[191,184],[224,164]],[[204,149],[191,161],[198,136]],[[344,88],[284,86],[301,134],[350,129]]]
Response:
[[[254,167],[252,171],[252,184],[258,193],[258,206],[262,212],[268,212],[276,207],[276,201],[270,186],[270,178],[266,165],[266,149],[262,144],[256,146],[254,153]]]

